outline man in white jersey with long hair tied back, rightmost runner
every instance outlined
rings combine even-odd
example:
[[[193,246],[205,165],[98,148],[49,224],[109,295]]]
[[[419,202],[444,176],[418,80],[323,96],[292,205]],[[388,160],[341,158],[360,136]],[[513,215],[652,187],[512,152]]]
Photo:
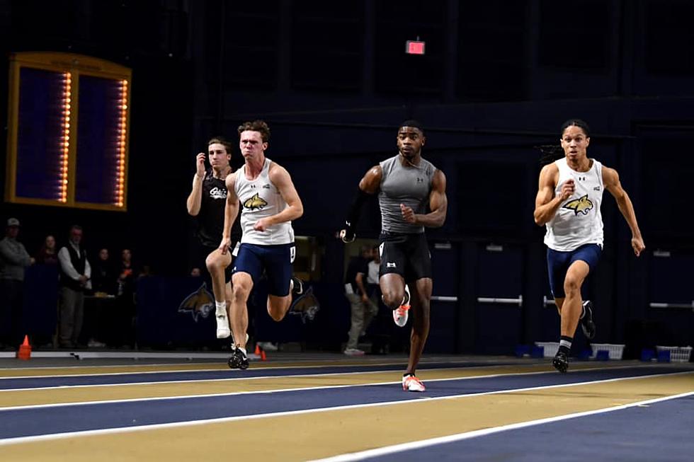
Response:
[[[536,224],[547,225],[547,270],[562,318],[559,350],[552,365],[564,373],[569,369],[571,342],[579,321],[586,337],[595,337],[593,305],[581,299],[581,286],[596,269],[603,250],[603,190],[617,200],[632,231],[631,243],[637,257],[645,246],[634,206],[620,184],[619,174],[586,154],[591,142],[588,124],[579,119],[567,120],[562,125],[561,142],[564,158],[540,172],[534,217]]]

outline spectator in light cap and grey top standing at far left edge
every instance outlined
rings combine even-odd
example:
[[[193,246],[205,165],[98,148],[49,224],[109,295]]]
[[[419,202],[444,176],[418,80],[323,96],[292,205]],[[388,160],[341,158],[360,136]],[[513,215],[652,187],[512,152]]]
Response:
[[[24,245],[17,241],[18,234],[19,220],[8,219],[5,238],[0,241],[0,342],[15,349],[23,340],[24,269],[34,262]]]

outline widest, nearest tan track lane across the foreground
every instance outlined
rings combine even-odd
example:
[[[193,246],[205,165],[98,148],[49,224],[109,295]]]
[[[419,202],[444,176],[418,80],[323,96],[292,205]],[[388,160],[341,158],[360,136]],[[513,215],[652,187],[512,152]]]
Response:
[[[4,460],[301,461],[694,391],[694,372],[0,446]],[[416,418],[413,431],[407,422]],[[596,417],[599,418],[599,417]]]

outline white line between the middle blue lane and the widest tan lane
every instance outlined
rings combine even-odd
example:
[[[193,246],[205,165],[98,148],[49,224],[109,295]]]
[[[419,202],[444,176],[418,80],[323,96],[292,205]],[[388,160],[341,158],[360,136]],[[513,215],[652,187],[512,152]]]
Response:
[[[651,378],[651,377],[673,376],[673,375],[681,375],[681,374],[693,374],[693,373],[691,371],[686,371],[686,372],[675,372],[673,374],[656,374],[656,375],[637,376],[637,377],[622,377],[619,379],[595,380],[595,381],[587,381],[587,382],[579,382],[579,383],[560,383],[558,385],[514,388],[514,389],[510,389],[510,390],[487,391],[484,393],[465,393],[462,395],[436,396],[436,397],[427,398],[426,400],[427,401],[452,400],[452,399],[456,399],[456,398],[470,398],[470,397],[474,397],[474,396],[499,395],[501,393],[519,393],[519,392],[523,392],[523,391],[547,390],[550,388],[564,388],[564,387],[570,387],[570,386],[591,385],[593,383],[605,383],[605,382],[614,382],[614,381],[620,381],[620,380],[633,380],[633,379],[647,379],[647,378]],[[657,399],[662,399],[662,398],[657,398]],[[331,406],[331,407],[327,407],[327,408],[312,408],[312,409],[290,410],[290,411],[281,411],[281,412],[266,412],[263,414],[238,415],[238,416],[234,416],[234,417],[217,417],[217,418],[213,418],[213,419],[186,420],[184,422],[167,422],[167,423],[163,423],[163,424],[140,425],[137,427],[115,427],[115,428],[96,429],[96,430],[81,430],[81,431],[77,431],[77,432],[63,432],[63,433],[54,433],[54,434],[33,435],[30,437],[13,437],[13,438],[0,439],[0,446],[7,446],[10,444],[30,443],[33,441],[47,441],[47,440],[52,440],[52,439],[64,439],[64,438],[72,438],[72,437],[87,437],[87,436],[99,435],[99,434],[118,434],[118,433],[129,433],[129,432],[143,432],[143,431],[152,430],[152,429],[186,427],[188,425],[193,426],[193,425],[206,425],[206,424],[211,424],[211,423],[220,423],[220,422],[237,422],[240,420],[256,420],[256,419],[266,419],[266,418],[271,418],[271,417],[283,417],[283,416],[287,416],[287,415],[310,414],[312,412],[332,412],[332,411],[336,411],[336,410],[375,408],[375,407],[381,407],[381,406],[406,405],[406,404],[422,403],[422,402],[423,402],[423,400],[418,400],[418,399],[385,401],[382,403],[351,404],[351,405]],[[644,401],[642,403],[646,403],[646,401]]]

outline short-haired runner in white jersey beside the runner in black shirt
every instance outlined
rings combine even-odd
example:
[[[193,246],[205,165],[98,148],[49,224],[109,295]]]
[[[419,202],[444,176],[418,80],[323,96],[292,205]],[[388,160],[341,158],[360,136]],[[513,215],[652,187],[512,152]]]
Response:
[[[241,246],[232,268],[230,324],[236,348],[229,358],[232,369],[249,366],[246,354],[248,311],[246,302],[263,271],[268,277],[268,313],[280,321],[292,304],[292,293],[301,294],[301,281],[292,277],[295,258],[292,220],[304,207],[289,172],[266,158],[270,128],[262,120],[244,122],[238,129],[244,166],[227,176],[224,235],[220,250],[231,245],[231,224],[241,206]],[[240,201],[240,202],[239,202]],[[217,275],[222,277],[223,275]],[[224,282],[220,280],[220,284]]]

